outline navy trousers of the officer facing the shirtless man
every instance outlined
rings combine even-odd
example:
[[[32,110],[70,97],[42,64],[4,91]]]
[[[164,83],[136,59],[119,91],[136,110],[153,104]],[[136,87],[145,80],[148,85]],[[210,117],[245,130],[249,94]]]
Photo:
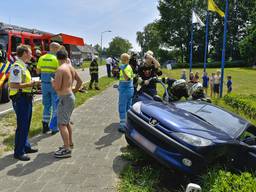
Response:
[[[32,96],[17,94],[12,98],[13,109],[17,118],[14,156],[21,156],[30,149],[28,132],[32,117]]]

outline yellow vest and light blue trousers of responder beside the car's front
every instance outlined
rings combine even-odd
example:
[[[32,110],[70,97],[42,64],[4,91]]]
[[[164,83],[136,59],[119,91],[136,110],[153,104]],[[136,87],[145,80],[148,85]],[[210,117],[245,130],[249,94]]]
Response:
[[[125,80],[124,73],[129,77]],[[124,131],[126,113],[132,105],[132,98],[134,94],[133,87],[133,70],[128,64],[121,64],[119,77],[119,117],[120,117],[120,131]]]

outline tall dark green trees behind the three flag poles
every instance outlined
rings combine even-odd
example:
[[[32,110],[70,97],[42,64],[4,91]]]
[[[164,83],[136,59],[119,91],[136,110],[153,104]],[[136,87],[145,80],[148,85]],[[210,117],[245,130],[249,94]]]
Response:
[[[225,10],[225,1],[214,0],[220,9]],[[228,34],[226,58],[240,59],[239,42],[246,36],[247,26],[255,18],[255,0],[229,1]],[[181,61],[189,58],[191,31],[191,10],[199,14],[202,21],[206,20],[207,1],[198,0],[159,0],[160,12],[159,34],[167,48],[180,50]],[[223,43],[224,19],[217,13],[210,12],[209,45],[214,60],[221,59]],[[194,30],[193,60],[203,61],[205,29]]]

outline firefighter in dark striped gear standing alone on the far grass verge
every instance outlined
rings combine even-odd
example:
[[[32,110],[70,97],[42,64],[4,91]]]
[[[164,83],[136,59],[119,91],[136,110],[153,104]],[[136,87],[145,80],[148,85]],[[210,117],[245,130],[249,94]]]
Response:
[[[92,89],[93,83],[96,90],[100,90],[99,88],[99,65],[98,65],[98,56],[94,56],[91,64],[90,64],[90,75],[91,75],[91,81],[89,84],[89,89]]]

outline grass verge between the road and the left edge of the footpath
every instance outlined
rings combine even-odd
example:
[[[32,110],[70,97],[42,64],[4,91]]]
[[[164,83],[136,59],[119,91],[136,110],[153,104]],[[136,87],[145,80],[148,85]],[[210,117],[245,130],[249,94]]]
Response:
[[[89,90],[87,93],[76,93],[76,107],[83,104],[89,98],[98,95],[104,91],[107,87],[113,84],[115,80],[108,77],[102,77],[99,79],[99,86],[101,90]],[[88,83],[85,83],[85,86]],[[88,85],[87,85],[88,87]],[[42,131],[42,113],[43,106],[41,103],[35,103],[33,106],[33,116],[31,120],[31,126],[29,131],[29,137],[33,137]],[[0,155],[4,151],[10,151],[13,149],[14,134],[16,129],[16,116],[14,112],[11,112],[0,119]]]

